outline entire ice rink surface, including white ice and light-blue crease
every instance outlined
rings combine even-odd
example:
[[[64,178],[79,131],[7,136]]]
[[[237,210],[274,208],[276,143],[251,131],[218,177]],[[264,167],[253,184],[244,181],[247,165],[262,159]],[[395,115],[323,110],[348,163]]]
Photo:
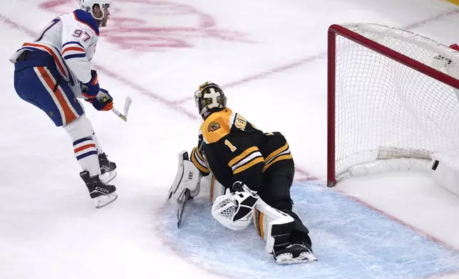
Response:
[[[371,22],[459,42],[459,7],[440,0],[115,1],[94,65],[128,122],[86,106],[119,198],[93,207],[71,140],[14,92],[8,58],[73,0],[14,0],[0,26],[0,278],[459,278],[459,198],[428,174],[326,176],[326,30]],[[281,131],[296,162],[295,209],[311,230],[308,265],[276,265],[254,230],[227,231],[203,189],[183,228],[165,204],[177,153],[197,144],[193,93]],[[273,277],[275,275],[275,277]]]

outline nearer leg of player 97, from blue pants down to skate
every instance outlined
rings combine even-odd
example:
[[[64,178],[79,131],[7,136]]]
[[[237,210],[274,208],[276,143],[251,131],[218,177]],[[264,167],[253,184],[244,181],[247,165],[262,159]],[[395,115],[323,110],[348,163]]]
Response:
[[[115,186],[100,180],[96,144],[92,139],[91,122],[84,116],[83,107],[66,83],[59,83],[59,74],[53,68],[33,67],[15,72],[14,85],[19,97],[46,112],[58,127],[64,127],[73,139],[73,149],[83,172],[91,198],[96,207],[116,199]],[[87,177],[86,177],[87,174]]]

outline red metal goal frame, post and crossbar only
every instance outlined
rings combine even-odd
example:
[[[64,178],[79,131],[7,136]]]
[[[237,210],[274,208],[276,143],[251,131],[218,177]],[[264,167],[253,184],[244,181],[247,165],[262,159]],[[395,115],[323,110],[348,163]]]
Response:
[[[424,75],[428,75],[435,80],[450,85],[453,88],[459,88],[459,80],[440,72],[434,68],[425,65],[418,60],[414,60],[408,56],[398,53],[386,46],[372,41],[369,38],[361,36],[359,33],[349,30],[348,28],[333,24],[328,29],[327,42],[327,186],[333,187],[336,185],[335,177],[335,128],[336,128],[336,36],[342,36],[348,40],[354,41],[372,51],[376,51],[387,58],[396,60],[398,63],[417,70]]]

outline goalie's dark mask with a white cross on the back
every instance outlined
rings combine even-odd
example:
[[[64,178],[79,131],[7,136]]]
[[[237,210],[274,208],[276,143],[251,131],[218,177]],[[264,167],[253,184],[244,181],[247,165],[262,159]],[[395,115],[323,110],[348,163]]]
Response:
[[[227,98],[222,88],[207,81],[195,92],[196,107],[202,119],[205,119],[211,112],[219,111],[227,106]]]

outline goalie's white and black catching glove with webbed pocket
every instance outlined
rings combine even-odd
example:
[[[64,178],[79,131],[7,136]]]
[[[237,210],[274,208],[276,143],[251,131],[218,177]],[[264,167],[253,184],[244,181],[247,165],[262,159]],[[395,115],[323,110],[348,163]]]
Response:
[[[252,191],[241,181],[236,181],[228,194],[215,199],[212,216],[223,226],[240,231],[250,225],[258,199],[257,191]]]

